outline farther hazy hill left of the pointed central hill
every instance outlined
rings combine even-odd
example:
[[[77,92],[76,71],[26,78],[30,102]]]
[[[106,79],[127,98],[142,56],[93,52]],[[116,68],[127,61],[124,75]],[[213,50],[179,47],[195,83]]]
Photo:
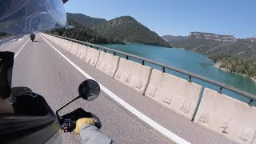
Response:
[[[85,14],[66,13],[66,17],[73,19],[75,22],[78,22],[79,24],[82,24],[82,26],[89,27],[98,26],[106,22],[106,19],[104,18],[91,18]]]

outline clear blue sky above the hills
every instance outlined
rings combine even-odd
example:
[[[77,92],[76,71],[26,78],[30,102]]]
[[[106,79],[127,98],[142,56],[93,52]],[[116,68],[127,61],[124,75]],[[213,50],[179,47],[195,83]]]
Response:
[[[256,0],[69,0],[65,8],[106,20],[130,15],[160,36],[191,31],[256,36]]]

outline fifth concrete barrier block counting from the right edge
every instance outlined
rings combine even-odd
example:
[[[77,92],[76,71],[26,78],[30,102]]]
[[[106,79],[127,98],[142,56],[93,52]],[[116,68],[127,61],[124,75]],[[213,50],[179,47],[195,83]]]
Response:
[[[99,50],[95,50],[94,48],[87,47],[85,61],[90,63],[91,66],[96,66],[99,57]]]

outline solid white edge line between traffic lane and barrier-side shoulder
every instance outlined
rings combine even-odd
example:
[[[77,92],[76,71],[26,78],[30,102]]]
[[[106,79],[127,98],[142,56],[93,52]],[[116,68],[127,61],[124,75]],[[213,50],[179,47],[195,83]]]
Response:
[[[40,34],[41,35],[41,34]],[[41,35],[42,37],[42,35]],[[42,37],[43,38],[43,37]],[[60,51],[58,51],[53,45],[50,44],[45,38],[43,38],[50,46],[54,48],[62,56],[62,58],[66,59],[67,62],[70,63],[70,65],[74,66],[75,69],[77,69],[82,75],[84,75],[86,78],[94,79],[89,74],[86,74],[85,71],[83,71],[80,67],[78,67],[74,62],[71,62],[69,58],[66,58],[64,54],[62,54]],[[95,80],[95,79],[94,79]],[[96,81],[96,80],[95,80]],[[152,119],[148,118],[145,114],[142,114],[140,111],[136,110],[133,106],[130,106],[127,102],[119,98],[116,94],[112,93],[110,90],[108,90],[105,86],[102,86],[98,82],[99,86],[101,87],[101,90],[104,91],[107,95],[109,95],[111,98],[113,98],[116,102],[124,106],[127,110],[129,110],[132,114],[135,114],[138,118],[142,119],[142,121],[146,122],[148,125],[152,126],[155,130],[158,130],[160,133],[164,134],[167,138],[170,138],[174,142],[177,143],[190,143],[186,142],[186,140],[178,137],[178,135],[172,133],[170,130],[167,130],[163,126],[159,125],[157,122],[154,122]]]

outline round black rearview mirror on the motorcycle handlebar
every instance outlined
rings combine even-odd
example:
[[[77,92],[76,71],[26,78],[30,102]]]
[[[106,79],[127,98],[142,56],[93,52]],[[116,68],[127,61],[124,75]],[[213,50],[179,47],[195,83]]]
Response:
[[[86,79],[78,87],[79,95],[87,101],[92,101],[95,98],[98,98],[100,91],[101,88],[98,85],[98,82],[92,79]]]

